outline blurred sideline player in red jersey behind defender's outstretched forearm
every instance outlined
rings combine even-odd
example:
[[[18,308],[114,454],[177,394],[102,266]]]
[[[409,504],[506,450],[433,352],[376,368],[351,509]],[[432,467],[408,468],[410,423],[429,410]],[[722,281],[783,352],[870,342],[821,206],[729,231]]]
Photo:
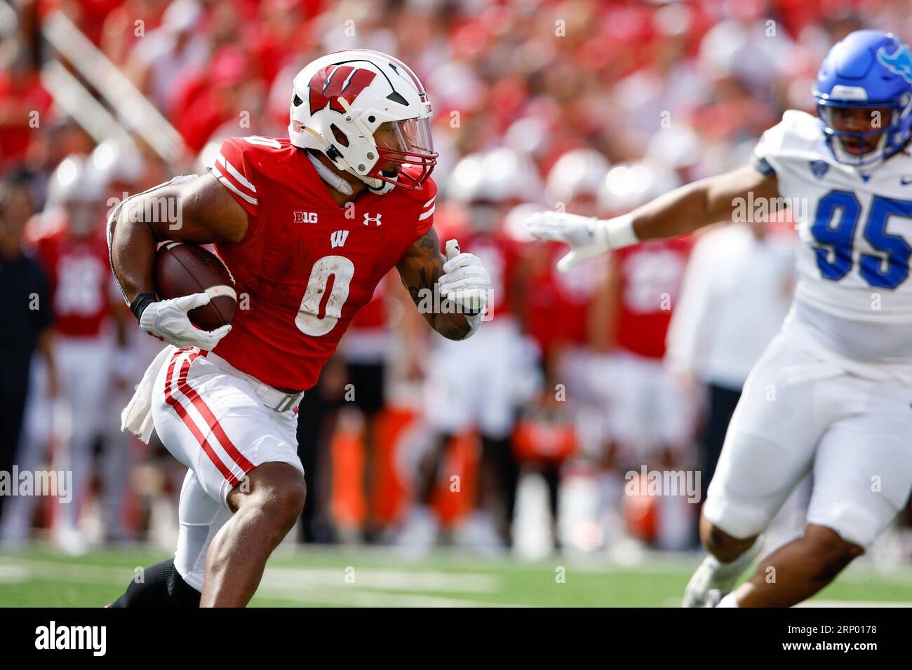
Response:
[[[599,210],[629,211],[678,185],[675,173],[658,163],[619,164],[602,182]],[[618,508],[624,511],[633,501],[621,496],[620,473],[638,471],[644,464],[679,467],[689,458],[697,406],[668,375],[663,356],[690,246],[689,238],[654,240],[611,253],[606,279],[592,303],[594,345],[606,353],[593,360],[590,375],[606,424],[600,522],[608,545],[623,537]],[[661,496],[639,502],[658,506],[657,525],[641,533],[641,540],[668,550],[689,543],[689,509],[681,499]]]

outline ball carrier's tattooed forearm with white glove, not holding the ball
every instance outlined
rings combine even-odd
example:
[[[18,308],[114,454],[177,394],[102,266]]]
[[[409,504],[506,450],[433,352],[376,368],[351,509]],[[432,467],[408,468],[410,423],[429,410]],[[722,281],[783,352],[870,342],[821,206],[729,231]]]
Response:
[[[462,340],[478,329],[484,313],[483,300],[480,309],[463,306],[479,296],[486,297],[490,285],[488,273],[476,256],[460,253],[445,259],[437,232],[430,228],[412,243],[396,269],[412,302],[440,335]]]

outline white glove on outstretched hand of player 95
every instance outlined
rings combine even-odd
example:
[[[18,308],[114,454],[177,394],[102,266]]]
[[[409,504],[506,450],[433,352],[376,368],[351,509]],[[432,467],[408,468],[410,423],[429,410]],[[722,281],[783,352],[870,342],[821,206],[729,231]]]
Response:
[[[526,225],[535,237],[570,245],[570,253],[557,262],[557,271],[561,273],[612,249],[638,242],[629,216],[604,221],[594,216],[536,211]]]

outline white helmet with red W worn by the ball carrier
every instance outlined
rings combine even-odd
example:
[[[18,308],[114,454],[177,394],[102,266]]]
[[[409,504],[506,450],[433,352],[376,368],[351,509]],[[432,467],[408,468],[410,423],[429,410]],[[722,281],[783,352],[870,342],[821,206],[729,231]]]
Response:
[[[373,191],[420,189],[437,162],[431,114],[420,79],[398,58],[337,51],[295,76],[288,137],[295,147],[326,154]],[[381,126],[385,132],[375,139]]]

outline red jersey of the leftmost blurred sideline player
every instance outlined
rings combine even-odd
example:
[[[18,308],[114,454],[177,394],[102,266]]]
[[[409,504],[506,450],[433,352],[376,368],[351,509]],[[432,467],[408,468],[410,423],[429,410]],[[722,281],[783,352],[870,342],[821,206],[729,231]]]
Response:
[[[61,228],[36,242],[50,278],[54,329],[67,337],[98,335],[111,315],[108,242],[104,236],[76,238]]]

